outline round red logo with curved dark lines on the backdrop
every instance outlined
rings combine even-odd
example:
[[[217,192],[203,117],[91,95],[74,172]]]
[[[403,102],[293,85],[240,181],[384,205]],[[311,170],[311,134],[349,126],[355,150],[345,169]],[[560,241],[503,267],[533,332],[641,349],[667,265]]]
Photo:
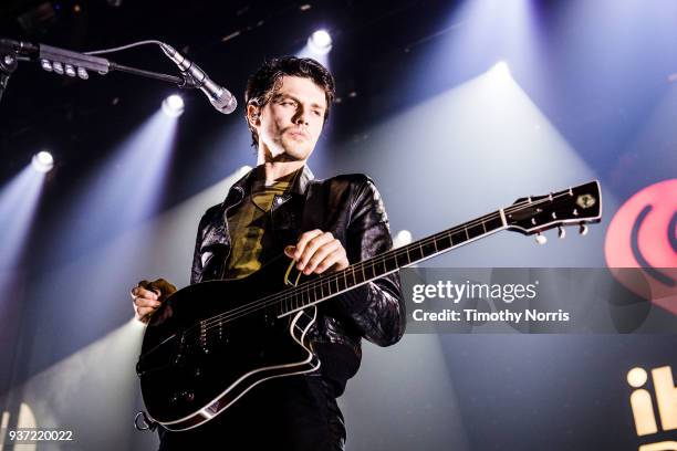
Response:
[[[677,179],[644,188],[618,209],[604,253],[618,282],[677,315]],[[642,281],[623,268],[642,268]]]

